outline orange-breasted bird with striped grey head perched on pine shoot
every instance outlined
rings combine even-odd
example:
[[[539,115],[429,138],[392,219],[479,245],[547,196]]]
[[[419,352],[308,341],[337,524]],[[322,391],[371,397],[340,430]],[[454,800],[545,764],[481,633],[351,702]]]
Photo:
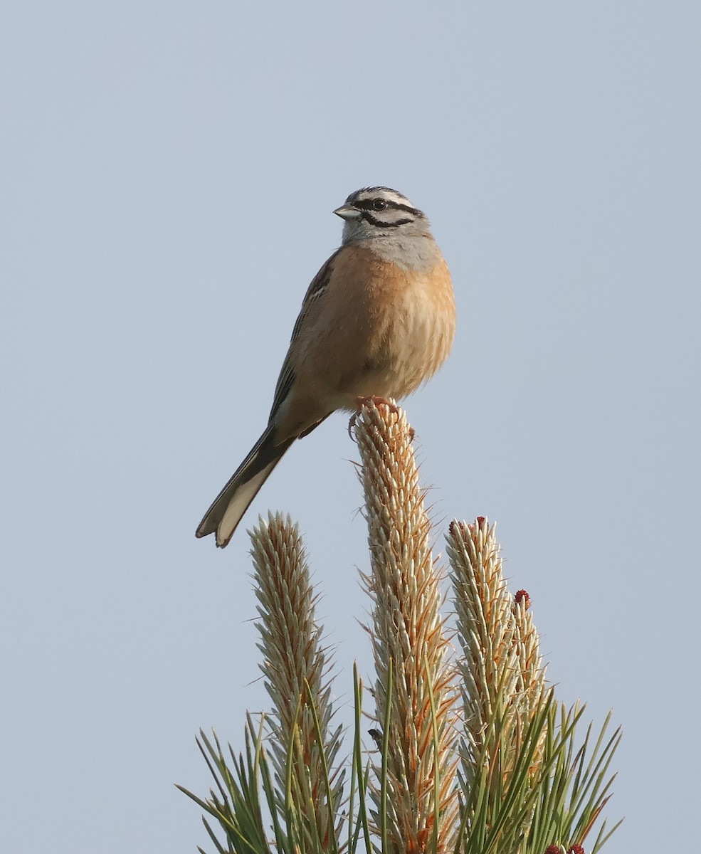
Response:
[[[258,442],[196,536],[225,547],[283,454],[336,410],[399,400],[453,347],[453,282],[426,214],[389,187],[363,187],[333,212],[342,243],[313,278]]]

